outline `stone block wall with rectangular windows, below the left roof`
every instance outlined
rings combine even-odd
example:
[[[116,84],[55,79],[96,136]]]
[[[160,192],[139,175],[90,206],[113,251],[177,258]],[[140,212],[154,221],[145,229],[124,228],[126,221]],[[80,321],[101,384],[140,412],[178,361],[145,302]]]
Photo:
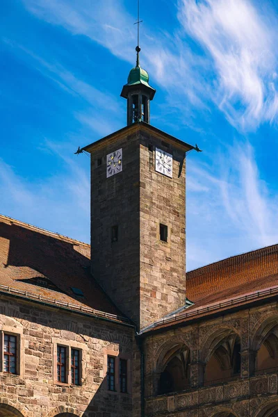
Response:
[[[1,296],[0,329],[1,340],[3,332],[19,337],[19,375],[3,373],[2,343],[0,372],[0,402],[20,411],[19,415],[54,417],[67,412],[86,417],[131,417],[132,395],[140,413],[140,378],[133,371],[140,355],[132,327]],[[80,386],[57,382],[57,343],[81,350]],[[129,359],[129,393],[108,391],[107,353]],[[1,414],[1,404],[0,415],[8,415],[8,409]]]

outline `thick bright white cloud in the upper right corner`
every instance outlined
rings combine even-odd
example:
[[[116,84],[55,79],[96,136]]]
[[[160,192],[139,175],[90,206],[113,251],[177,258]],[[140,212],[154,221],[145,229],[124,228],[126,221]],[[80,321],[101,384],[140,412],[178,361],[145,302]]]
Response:
[[[215,102],[241,129],[277,118],[277,22],[266,18],[249,0],[179,0],[183,28],[212,58]]]

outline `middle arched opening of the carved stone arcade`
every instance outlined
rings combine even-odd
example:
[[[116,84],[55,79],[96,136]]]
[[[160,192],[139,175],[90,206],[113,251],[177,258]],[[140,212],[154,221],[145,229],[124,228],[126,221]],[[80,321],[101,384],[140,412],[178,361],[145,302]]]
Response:
[[[218,337],[206,363],[204,384],[228,381],[240,375],[240,338],[228,332]]]

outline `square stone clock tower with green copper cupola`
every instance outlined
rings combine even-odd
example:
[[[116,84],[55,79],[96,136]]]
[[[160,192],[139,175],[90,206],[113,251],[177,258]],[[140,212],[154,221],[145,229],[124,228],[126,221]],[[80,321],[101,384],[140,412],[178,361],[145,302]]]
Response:
[[[92,275],[138,330],[186,302],[186,152],[150,124],[156,90],[137,62],[122,88],[127,126],[91,154]]]

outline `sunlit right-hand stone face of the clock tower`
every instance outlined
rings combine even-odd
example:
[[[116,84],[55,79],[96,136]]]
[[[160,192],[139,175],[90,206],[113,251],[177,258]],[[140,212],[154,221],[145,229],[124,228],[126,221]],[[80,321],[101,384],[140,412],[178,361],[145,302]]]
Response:
[[[172,154],[172,178],[156,172],[156,147]],[[152,150],[150,150],[152,149]],[[168,230],[160,240],[159,224]],[[140,328],[185,304],[185,149],[159,135],[140,136]]]

